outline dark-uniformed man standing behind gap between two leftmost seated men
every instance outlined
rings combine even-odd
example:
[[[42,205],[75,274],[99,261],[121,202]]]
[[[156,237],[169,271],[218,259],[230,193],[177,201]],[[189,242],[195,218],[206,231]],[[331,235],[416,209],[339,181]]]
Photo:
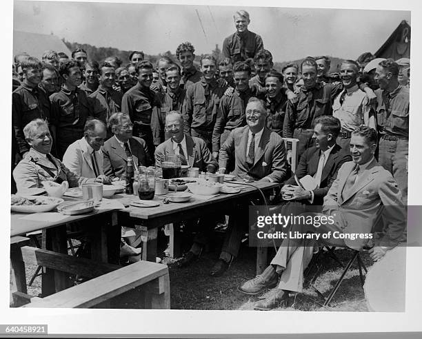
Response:
[[[65,61],[60,67],[64,83],[60,92],[50,96],[52,125],[56,127],[57,156],[63,157],[71,143],[83,136],[86,119],[92,115],[86,93],[79,89],[81,69],[78,61]]]

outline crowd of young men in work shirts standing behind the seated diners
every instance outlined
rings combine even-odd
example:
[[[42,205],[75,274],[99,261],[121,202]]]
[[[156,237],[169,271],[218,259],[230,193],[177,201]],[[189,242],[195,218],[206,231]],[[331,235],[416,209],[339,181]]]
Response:
[[[261,108],[265,110],[265,128],[280,136],[272,138],[277,143],[283,143],[281,137],[299,139],[299,159],[314,147],[319,135],[315,122],[321,116],[339,119],[341,129],[335,136],[335,143],[347,154],[350,154],[354,130],[361,125],[374,129],[378,136],[375,156],[394,177],[403,203],[406,203],[410,60],[377,59],[365,52],[356,60],[344,60],[335,73],[330,73],[328,56],[308,56],[299,65],[289,63],[282,70],[276,70],[272,53],[265,50],[259,34],[248,30],[249,23],[248,12],[236,12],[237,31],[224,39],[222,59],[216,60],[211,54],[202,55],[199,69],[194,65],[195,50],[190,42],[178,46],[177,60],[161,56],[155,65],[144,60],[141,51],[131,52],[125,66],[117,56],[110,56],[101,63],[91,60],[80,48],[74,50],[71,57],[60,51],[47,50],[41,61],[28,54],[16,55],[12,170],[30,151],[24,130],[34,119],[47,121],[52,137],[51,154],[62,160],[70,145],[83,139],[87,129],[96,128],[94,124],[89,125],[90,119],[102,121],[106,126],[106,137],[99,141],[103,145],[114,138],[113,134],[118,134],[114,123],[118,125],[122,116],[116,114],[123,113],[130,118],[130,121],[126,119],[129,123],[123,130],[132,130],[147,153],[145,163],[140,161],[140,165],[153,164],[157,149],[178,133],[174,130],[183,126],[185,136],[194,138],[192,140],[199,138],[201,145],[206,145],[212,157],[208,162],[214,164],[215,170],[218,166],[221,170],[223,150],[223,172],[234,169],[235,173],[242,173],[238,176],[245,177],[248,168],[252,168],[252,165],[248,167],[248,161],[252,157],[252,164],[254,162],[255,142],[259,144],[261,134],[257,133],[256,137],[252,132],[252,141],[250,138],[237,141],[235,132],[253,125],[254,120],[247,118],[247,109],[259,101],[249,114],[255,114]],[[181,119],[174,116],[174,112],[178,112]],[[176,121],[172,125],[166,123],[168,114]],[[321,135],[323,133],[324,130]],[[184,140],[183,134],[181,138]],[[238,158],[232,159],[231,165],[227,161],[231,150],[229,144],[238,147],[239,142],[245,143],[246,150],[243,172],[234,168]],[[180,146],[181,143],[178,145],[179,149],[174,147],[177,154],[188,151]],[[133,152],[125,147],[123,151],[126,154]],[[282,152],[291,161],[290,151],[283,148]],[[262,163],[262,166],[266,165],[268,161]],[[99,172],[101,170],[95,174]],[[280,183],[288,178],[285,174],[286,171]],[[254,180],[261,179],[250,176]],[[279,181],[279,177],[268,178]],[[17,185],[19,187],[19,183]],[[192,253],[197,256],[198,250],[194,249]],[[227,267],[220,267],[220,271],[225,269]]]

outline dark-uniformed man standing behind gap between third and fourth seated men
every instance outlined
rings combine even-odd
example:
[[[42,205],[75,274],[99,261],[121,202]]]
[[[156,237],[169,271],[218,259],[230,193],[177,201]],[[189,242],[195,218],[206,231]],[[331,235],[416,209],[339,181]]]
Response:
[[[134,136],[143,138],[152,158],[155,150],[152,136],[154,127],[151,125],[152,109],[157,107],[158,113],[161,114],[159,95],[150,90],[154,66],[150,61],[141,61],[135,65],[135,69],[138,74],[138,82],[123,95],[121,112],[130,116],[130,120],[134,124]]]

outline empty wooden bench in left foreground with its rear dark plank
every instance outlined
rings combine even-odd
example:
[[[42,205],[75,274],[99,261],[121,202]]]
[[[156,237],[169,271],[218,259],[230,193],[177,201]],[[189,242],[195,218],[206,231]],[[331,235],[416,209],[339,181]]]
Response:
[[[28,246],[21,247],[20,254],[24,263],[92,278],[45,298],[14,292],[17,298],[30,302],[23,307],[108,308],[112,298],[132,291],[139,292],[140,308],[170,309],[170,278],[166,265],[139,261],[120,267]]]

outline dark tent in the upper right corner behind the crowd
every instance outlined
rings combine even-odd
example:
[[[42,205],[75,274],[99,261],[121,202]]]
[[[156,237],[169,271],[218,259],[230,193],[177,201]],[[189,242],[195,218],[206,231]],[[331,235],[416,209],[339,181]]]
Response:
[[[401,21],[387,41],[375,52],[375,56],[393,60],[410,59],[410,25],[407,21]]]

